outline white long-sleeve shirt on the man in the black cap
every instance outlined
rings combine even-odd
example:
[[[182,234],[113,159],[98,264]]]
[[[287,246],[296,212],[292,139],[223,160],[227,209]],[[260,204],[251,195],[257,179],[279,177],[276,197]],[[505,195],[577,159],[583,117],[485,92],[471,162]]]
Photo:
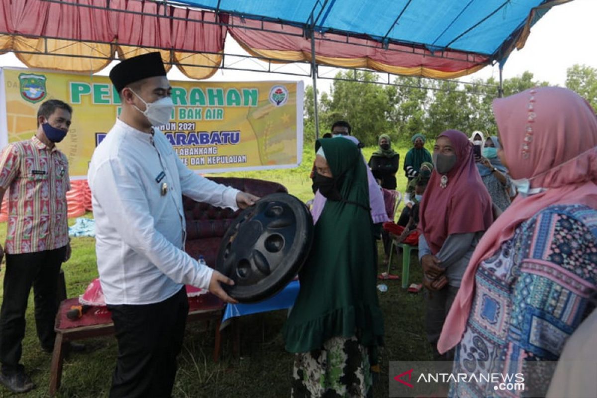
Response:
[[[147,134],[119,119],[93,154],[88,183],[107,304],[158,303],[183,283],[208,288],[213,270],[184,252],[182,195],[236,209],[238,190],[190,171],[158,129]]]

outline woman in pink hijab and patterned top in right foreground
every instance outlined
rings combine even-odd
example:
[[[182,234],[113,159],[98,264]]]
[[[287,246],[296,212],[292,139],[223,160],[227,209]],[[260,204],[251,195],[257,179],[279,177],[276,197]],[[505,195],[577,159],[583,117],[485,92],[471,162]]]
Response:
[[[519,195],[479,242],[438,350],[456,346],[454,373],[522,374],[544,396],[564,343],[597,297],[597,117],[565,88],[493,103]],[[451,396],[519,396],[492,382],[453,383]]]

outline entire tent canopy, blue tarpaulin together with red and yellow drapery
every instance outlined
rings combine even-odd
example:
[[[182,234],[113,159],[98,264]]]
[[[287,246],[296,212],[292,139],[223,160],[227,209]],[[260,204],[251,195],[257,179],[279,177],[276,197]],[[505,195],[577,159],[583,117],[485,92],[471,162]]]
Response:
[[[232,36],[269,63],[308,62],[453,79],[507,59],[570,0],[11,0],[0,52],[29,67],[96,72],[160,51],[190,78],[223,67]],[[190,6],[190,8],[181,7]]]

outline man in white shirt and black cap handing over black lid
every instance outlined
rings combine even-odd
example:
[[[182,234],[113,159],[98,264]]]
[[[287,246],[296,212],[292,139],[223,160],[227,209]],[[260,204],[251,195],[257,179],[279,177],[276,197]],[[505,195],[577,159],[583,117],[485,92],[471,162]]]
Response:
[[[182,195],[232,209],[259,199],[190,171],[157,126],[170,121],[171,87],[159,53],[110,72],[122,112],[91,159],[97,268],[118,340],[110,397],[170,397],[183,343],[184,284],[234,303],[229,278],[184,252]]]

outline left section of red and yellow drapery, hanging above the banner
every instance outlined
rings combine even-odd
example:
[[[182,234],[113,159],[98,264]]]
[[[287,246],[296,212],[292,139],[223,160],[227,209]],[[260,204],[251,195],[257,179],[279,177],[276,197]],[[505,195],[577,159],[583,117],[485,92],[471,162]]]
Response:
[[[121,58],[160,51],[202,79],[219,67],[226,38],[226,27],[201,22],[216,20],[210,11],[142,0],[5,0],[0,10],[0,51],[16,51],[30,67],[97,72],[116,51]]]

